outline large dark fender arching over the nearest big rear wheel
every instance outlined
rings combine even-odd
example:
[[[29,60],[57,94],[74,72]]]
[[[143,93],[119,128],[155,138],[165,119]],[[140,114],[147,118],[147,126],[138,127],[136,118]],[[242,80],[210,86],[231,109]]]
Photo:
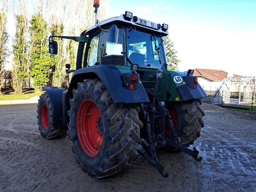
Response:
[[[74,72],[68,88],[66,100],[73,97],[73,89],[77,89],[77,83],[84,79],[100,78],[105,84],[114,103],[145,103],[149,102],[148,95],[138,79],[138,89],[130,90],[124,84],[123,73],[131,73],[129,67],[95,65]]]

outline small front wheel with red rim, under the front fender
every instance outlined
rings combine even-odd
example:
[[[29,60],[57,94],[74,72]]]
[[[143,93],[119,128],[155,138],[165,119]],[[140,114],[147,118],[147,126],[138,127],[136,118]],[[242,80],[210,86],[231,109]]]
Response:
[[[62,138],[67,134],[66,126],[53,127],[52,125],[52,105],[47,93],[43,93],[37,104],[37,124],[41,135],[45,139]]]

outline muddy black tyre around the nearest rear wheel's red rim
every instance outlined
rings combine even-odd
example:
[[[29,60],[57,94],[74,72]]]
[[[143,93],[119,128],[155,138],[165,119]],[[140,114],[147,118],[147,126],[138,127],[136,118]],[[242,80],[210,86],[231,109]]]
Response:
[[[103,145],[100,153],[95,157],[89,157],[82,151],[76,133],[77,109],[82,100],[87,98],[98,105],[104,126]],[[77,163],[84,172],[93,178],[104,178],[131,165],[132,159],[139,155],[138,138],[143,125],[139,120],[136,105],[115,104],[106,86],[98,78],[85,79],[83,83],[78,83],[77,90],[73,90],[70,105],[68,126],[70,140],[73,143],[72,151],[76,154]]]

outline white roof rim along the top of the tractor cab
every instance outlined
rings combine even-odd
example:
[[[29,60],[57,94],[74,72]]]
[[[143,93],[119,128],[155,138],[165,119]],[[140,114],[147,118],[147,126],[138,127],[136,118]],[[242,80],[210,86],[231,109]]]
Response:
[[[135,16],[133,16],[135,17]],[[120,23],[120,24],[124,24],[124,25],[133,25],[135,26],[135,28],[142,28],[144,30],[147,30],[147,31],[152,31],[152,32],[157,32],[157,33],[161,33],[162,36],[167,36],[169,33],[168,33],[168,30],[166,31],[163,31],[162,28],[160,29],[155,29],[155,28],[150,28],[148,26],[145,26],[145,25],[140,25],[140,24],[137,24],[133,21],[133,19],[131,21],[129,20],[125,20],[124,19],[124,15],[120,15],[119,17],[112,17],[112,18],[109,18],[109,19],[106,19],[106,20],[103,20],[103,21],[100,21],[98,23],[98,25],[100,25],[102,28],[104,27],[107,27],[109,26],[110,24],[115,24],[115,23]],[[91,28],[89,28],[85,35],[90,35],[94,32],[96,32],[97,30],[99,30],[98,27],[96,27],[96,25],[92,26]]]

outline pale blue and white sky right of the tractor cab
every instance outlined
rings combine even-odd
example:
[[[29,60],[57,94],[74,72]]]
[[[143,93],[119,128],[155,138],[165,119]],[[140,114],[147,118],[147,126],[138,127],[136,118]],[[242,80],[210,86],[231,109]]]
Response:
[[[212,68],[256,76],[256,1],[109,0],[106,17],[125,11],[169,25],[181,71]]]

